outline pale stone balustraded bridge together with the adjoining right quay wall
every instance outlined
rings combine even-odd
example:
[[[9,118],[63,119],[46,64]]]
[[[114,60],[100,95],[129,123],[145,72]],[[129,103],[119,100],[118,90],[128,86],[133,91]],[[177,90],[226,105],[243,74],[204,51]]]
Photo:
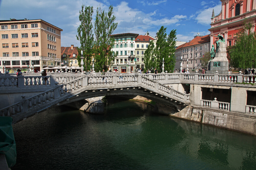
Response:
[[[157,103],[157,111],[225,126],[239,117],[256,134],[256,77],[240,74],[0,74],[0,115],[13,123],[46,109],[108,95],[138,95]],[[207,113],[207,114],[206,114]],[[240,118],[243,118],[240,120]],[[244,121],[244,122],[243,122]],[[235,125],[231,123],[232,129]],[[239,131],[245,132],[247,126]],[[248,131],[248,130],[247,130]]]

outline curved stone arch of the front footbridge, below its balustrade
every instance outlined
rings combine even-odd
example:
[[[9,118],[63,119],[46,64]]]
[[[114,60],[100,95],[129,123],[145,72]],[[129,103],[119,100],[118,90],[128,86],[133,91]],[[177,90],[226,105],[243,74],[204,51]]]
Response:
[[[105,87],[105,88],[104,88]],[[44,103],[38,106],[35,109],[29,110],[24,114],[19,114],[13,117],[13,123],[19,122],[21,120],[26,119],[27,117],[33,116],[37,113],[43,112],[46,109],[58,107],[63,104],[68,104],[72,102],[76,102],[83,99],[88,99],[92,97],[99,97],[99,96],[111,96],[111,95],[136,95],[148,98],[153,100],[157,103],[162,103],[168,106],[172,106],[172,108],[176,108],[180,110],[180,108],[186,107],[187,104],[184,104],[182,101],[183,99],[180,98],[172,98],[169,94],[161,94],[162,92],[147,88],[146,86],[137,85],[137,86],[129,86],[129,85],[115,85],[115,86],[102,86],[99,87],[84,87],[79,88],[74,91],[70,91],[65,95],[57,98],[56,100],[52,100],[50,102]]]

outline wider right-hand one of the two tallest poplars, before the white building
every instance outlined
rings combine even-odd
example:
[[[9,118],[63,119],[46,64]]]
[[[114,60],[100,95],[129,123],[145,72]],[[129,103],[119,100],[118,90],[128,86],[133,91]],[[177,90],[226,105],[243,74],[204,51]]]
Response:
[[[108,70],[112,66],[112,61],[117,56],[111,51],[114,45],[114,38],[110,37],[117,27],[114,23],[115,16],[113,14],[113,6],[109,7],[109,11],[102,11],[97,8],[97,14],[94,22],[95,46],[94,46],[94,69],[96,72],[102,69]]]

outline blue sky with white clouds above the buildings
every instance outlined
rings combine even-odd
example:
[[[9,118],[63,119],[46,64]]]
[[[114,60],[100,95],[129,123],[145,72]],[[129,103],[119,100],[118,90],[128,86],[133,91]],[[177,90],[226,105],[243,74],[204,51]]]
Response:
[[[157,28],[164,25],[167,34],[176,29],[177,41],[187,42],[198,31],[200,35],[210,34],[212,9],[215,15],[221,11],[219,0],[0,0],[0,20],[42,19],[63,30],[61,46],[80,46],[76,35],[82,4],[93,6],[93,20],[98,6],[107,11],[109,5],[113,5],[118,22],[113,34],[130,32],[144,35],[148,31],[155,36]]]

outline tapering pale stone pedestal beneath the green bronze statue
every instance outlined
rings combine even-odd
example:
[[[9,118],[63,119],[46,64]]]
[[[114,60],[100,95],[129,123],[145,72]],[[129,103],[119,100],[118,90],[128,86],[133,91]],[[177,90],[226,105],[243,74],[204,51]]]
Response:
[[[219,74],[228,74],[228,59],[226,44],[219,42],[215,57],[208,62],[207,74],[215,74],[218,71]]]

